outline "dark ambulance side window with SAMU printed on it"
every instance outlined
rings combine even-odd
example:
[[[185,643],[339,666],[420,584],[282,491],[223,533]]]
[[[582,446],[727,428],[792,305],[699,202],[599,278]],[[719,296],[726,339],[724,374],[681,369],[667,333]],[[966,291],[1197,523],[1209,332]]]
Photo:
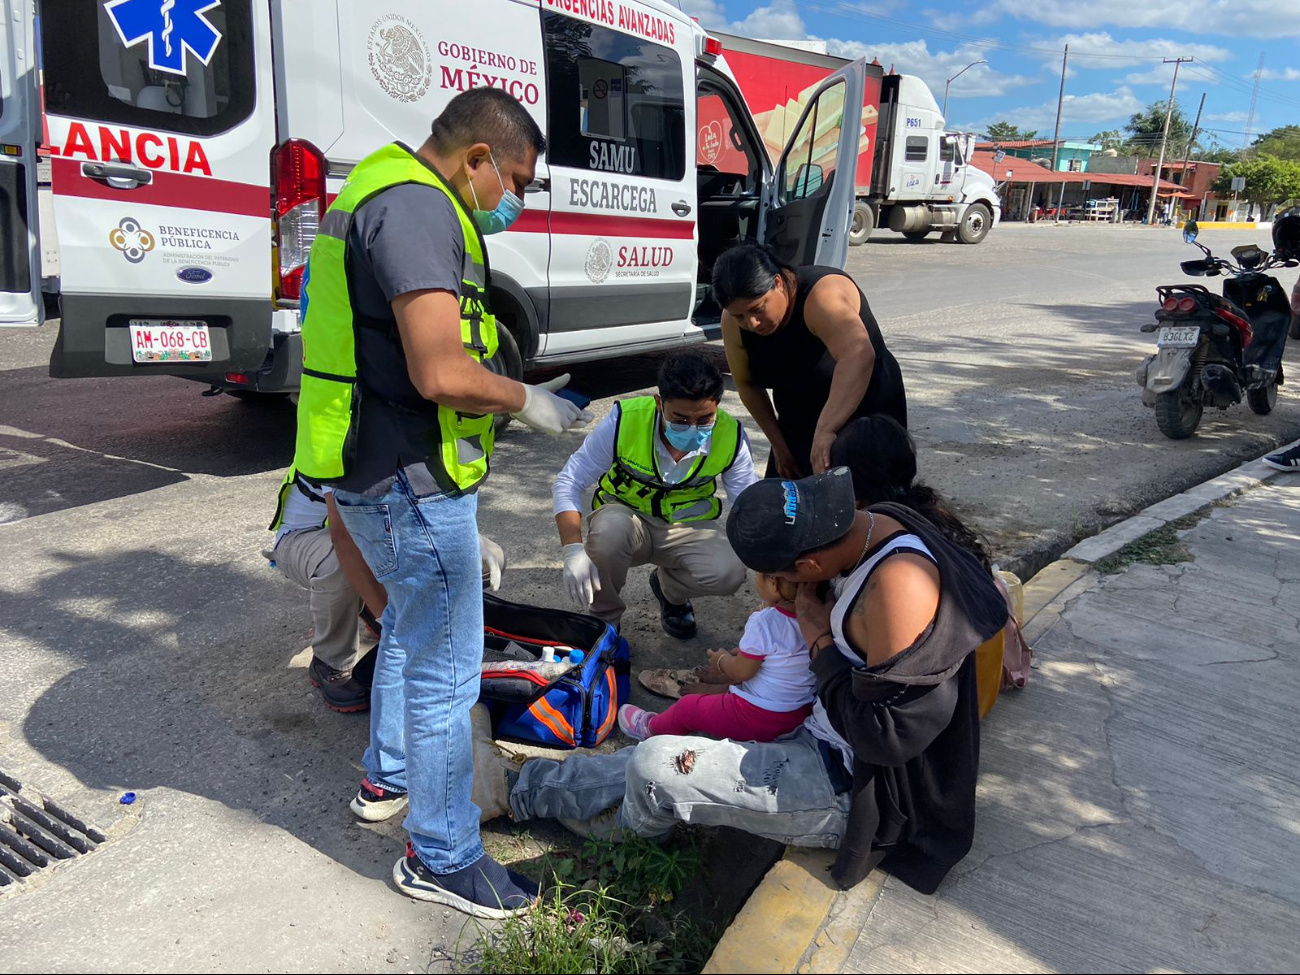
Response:
[[[677,52],[559,13],[543,22],[551,165],[681,179],[686,103]]]

